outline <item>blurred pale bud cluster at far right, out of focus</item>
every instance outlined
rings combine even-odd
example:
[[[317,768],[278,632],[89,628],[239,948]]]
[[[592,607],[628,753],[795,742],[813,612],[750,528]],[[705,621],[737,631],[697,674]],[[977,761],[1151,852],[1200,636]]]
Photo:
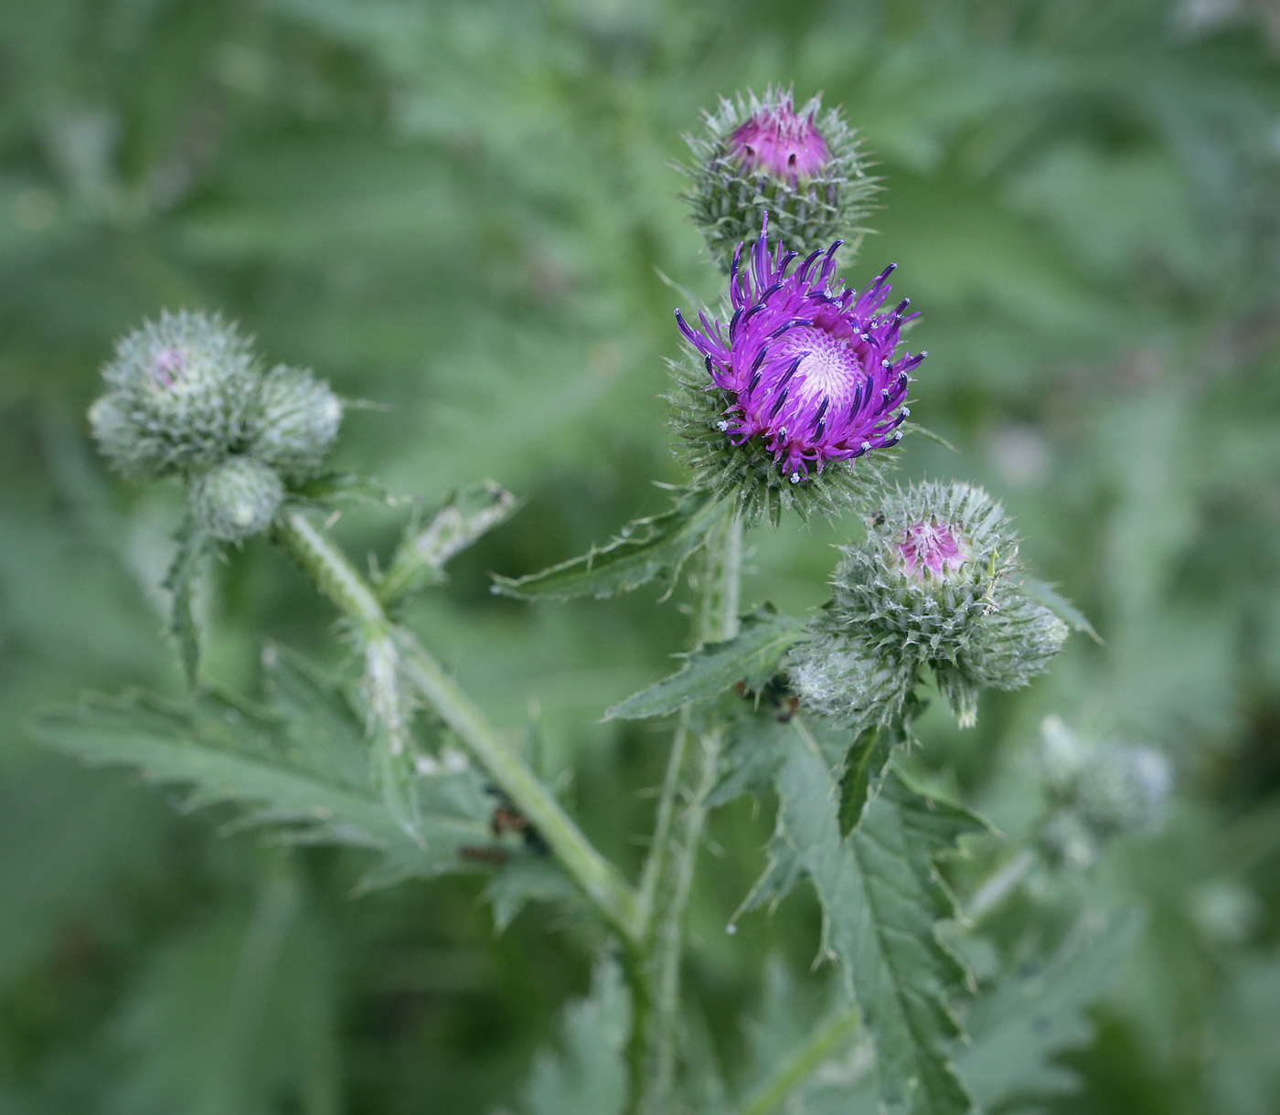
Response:
[[[1087,868],[1108,840],[1164,821],[1174,778],[1162,751],[1082,739],[1046,717],[1038,758],[1052,810],[1041,842],[1055,860]]]

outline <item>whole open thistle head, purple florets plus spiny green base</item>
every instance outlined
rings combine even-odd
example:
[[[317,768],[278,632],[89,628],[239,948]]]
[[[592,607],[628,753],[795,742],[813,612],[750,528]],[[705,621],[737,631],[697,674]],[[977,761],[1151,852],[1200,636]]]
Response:
[[[861,293],[835,275],[840,242],[799,253],[768,241],[768,216],[742,266],[733,256],[727,325],[676,311],[705,376],[686,370],[677,396],[687,463],[703,486],[736,494],[749,517],[783,504],[831,511],[863,489],[852,462],[896,445],[910,415],[910,373],[927,353],[900,353],[908,301],[881,312],[890,265]],[[852,483],[851,483],[852,481]]]

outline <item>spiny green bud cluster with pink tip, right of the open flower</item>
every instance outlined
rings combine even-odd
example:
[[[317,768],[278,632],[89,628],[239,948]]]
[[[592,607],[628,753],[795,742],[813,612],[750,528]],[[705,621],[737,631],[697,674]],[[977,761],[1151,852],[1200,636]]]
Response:
[[[979,690],[1025,685],[1066,640],[1066,625],[1023,593],[1018,540],[980,488],[899,489],[882,501],[865,541],[842,553],[806,653],[852,648],[913,684],[928,670],[961,725],[975,721]],[[804,676],[822,671],[797,667]],[[804,686],[801,699],[828,708],[861,700]]]

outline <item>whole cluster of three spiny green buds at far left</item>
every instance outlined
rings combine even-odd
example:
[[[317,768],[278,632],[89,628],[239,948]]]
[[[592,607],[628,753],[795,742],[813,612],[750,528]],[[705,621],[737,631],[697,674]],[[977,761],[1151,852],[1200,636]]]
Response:
[[[323,467],[342,403],[310,371],[262,373],[250,342],[214,314],[164,312],[115,347],[90,408],[102,454],[127,476],[187,480],[196,524],[237,541],[260,534],[285,484]]]

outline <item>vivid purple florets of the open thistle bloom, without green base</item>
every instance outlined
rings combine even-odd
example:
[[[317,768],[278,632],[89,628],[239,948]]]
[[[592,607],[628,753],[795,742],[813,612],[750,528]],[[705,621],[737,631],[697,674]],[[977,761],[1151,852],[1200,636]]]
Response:
[[[902,323],[918,316],[904,316],[910,300],[877,312],[896,264],[861,294],[846,291],[833,274],[836,241],[788,275],[797,253],[781,245],[771,253],[768,225],[765,215],[748,270],[740,268],[745,245],[733,256],[728,326],[700,314],[703,329],[692,329],[678,310],[676,320],[703,356],[712,378],[705,389],[732,396],[721,430],[733,445],[762,438],[797,484],[810,466],[822,472],[831,461],[897,444],[910,415],[910,371],[928,353],[895,358]]]

